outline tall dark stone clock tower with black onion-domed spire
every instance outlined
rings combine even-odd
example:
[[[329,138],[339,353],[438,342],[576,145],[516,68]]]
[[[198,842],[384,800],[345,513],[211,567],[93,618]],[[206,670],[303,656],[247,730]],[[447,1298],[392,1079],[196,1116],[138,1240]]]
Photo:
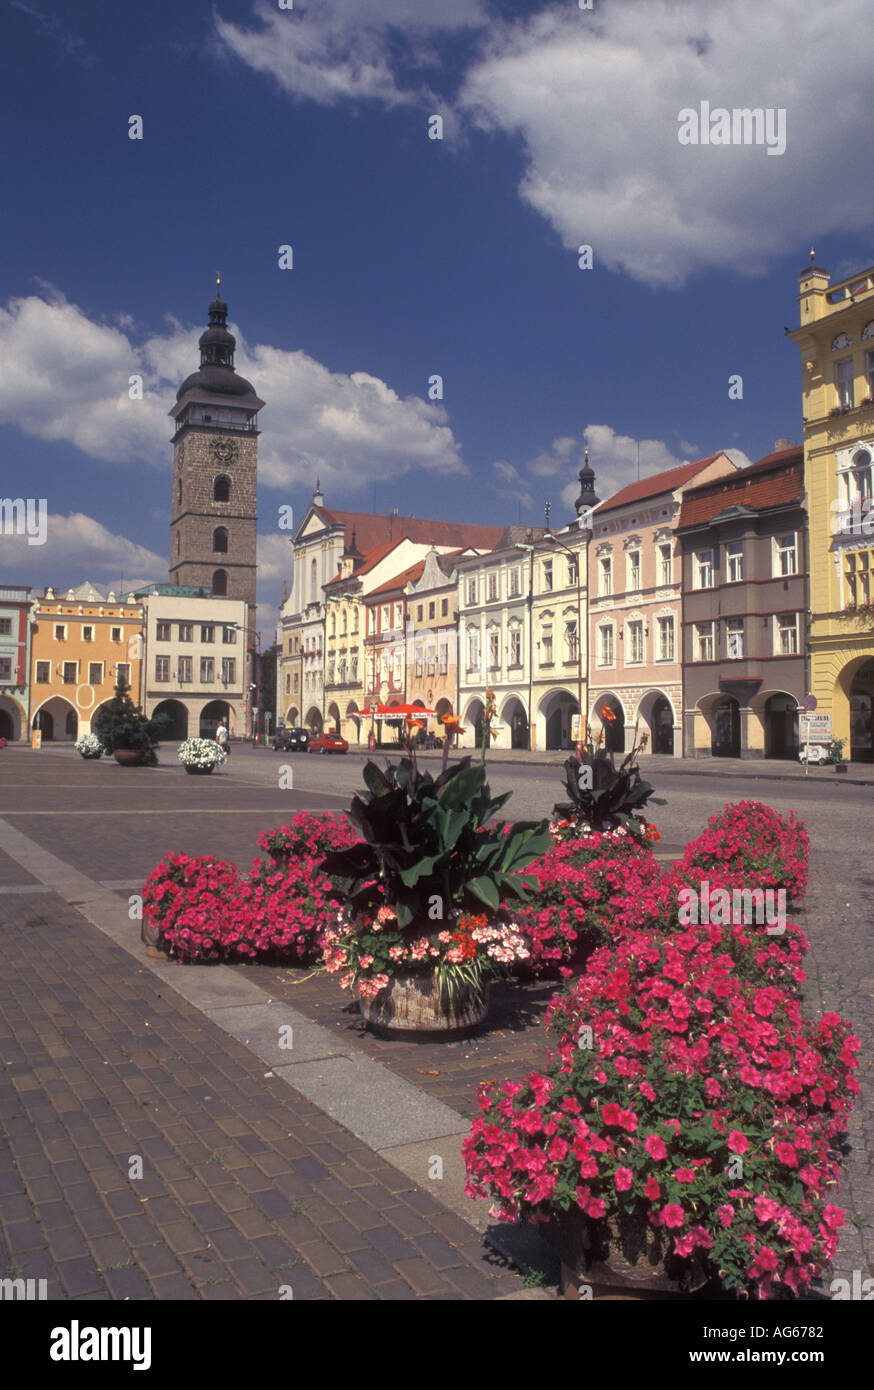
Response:
[[[170,580],[249,605],[256,630],[256,486],[258,399],[233,370],[236,339],[218,292],[200,335],[200,370],[179,386],[170,411],[174,445]]]

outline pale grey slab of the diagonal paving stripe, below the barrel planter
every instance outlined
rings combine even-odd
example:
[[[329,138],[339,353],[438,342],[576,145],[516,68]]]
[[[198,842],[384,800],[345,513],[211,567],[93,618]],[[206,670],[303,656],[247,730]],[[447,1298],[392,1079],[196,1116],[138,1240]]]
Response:
[[[463,1115],[370,1058],[335,1056],[274,1070],[377,1152],[470,1129]]]

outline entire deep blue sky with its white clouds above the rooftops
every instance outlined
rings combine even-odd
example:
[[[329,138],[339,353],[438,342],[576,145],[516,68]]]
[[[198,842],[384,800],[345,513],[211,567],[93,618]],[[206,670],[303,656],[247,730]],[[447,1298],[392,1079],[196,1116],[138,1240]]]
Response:
[[[0,581],[165,577],[217,268],[267,400],[265,628],[315,475],[338,507],[536,524],[585,442],[604,496],[638,443],[654,473],[800,439],[798,272],[811,242],[874,261],[863,0],[0,3],[0,493],[50,513],[44,546],[0,537]],[[702,100],[784,108],[785,153],[681,146]]]

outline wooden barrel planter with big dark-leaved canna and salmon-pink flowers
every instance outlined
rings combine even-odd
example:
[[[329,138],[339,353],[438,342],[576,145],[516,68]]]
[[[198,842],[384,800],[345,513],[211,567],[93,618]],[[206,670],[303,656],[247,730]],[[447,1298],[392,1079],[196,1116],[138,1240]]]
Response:
[[[454,1033],[485,1016],[489,976],[527,954],[506,909],[527,899],[521,870],[550,844],[546,821],[489,824],[510,792],[492,796],[482,762],[447,766],[446,749],[438,777],[414,755],[385,771],[368,762],[349,810],[361,841],[321,865],[345,897],[325,965],[390,1031]]]

